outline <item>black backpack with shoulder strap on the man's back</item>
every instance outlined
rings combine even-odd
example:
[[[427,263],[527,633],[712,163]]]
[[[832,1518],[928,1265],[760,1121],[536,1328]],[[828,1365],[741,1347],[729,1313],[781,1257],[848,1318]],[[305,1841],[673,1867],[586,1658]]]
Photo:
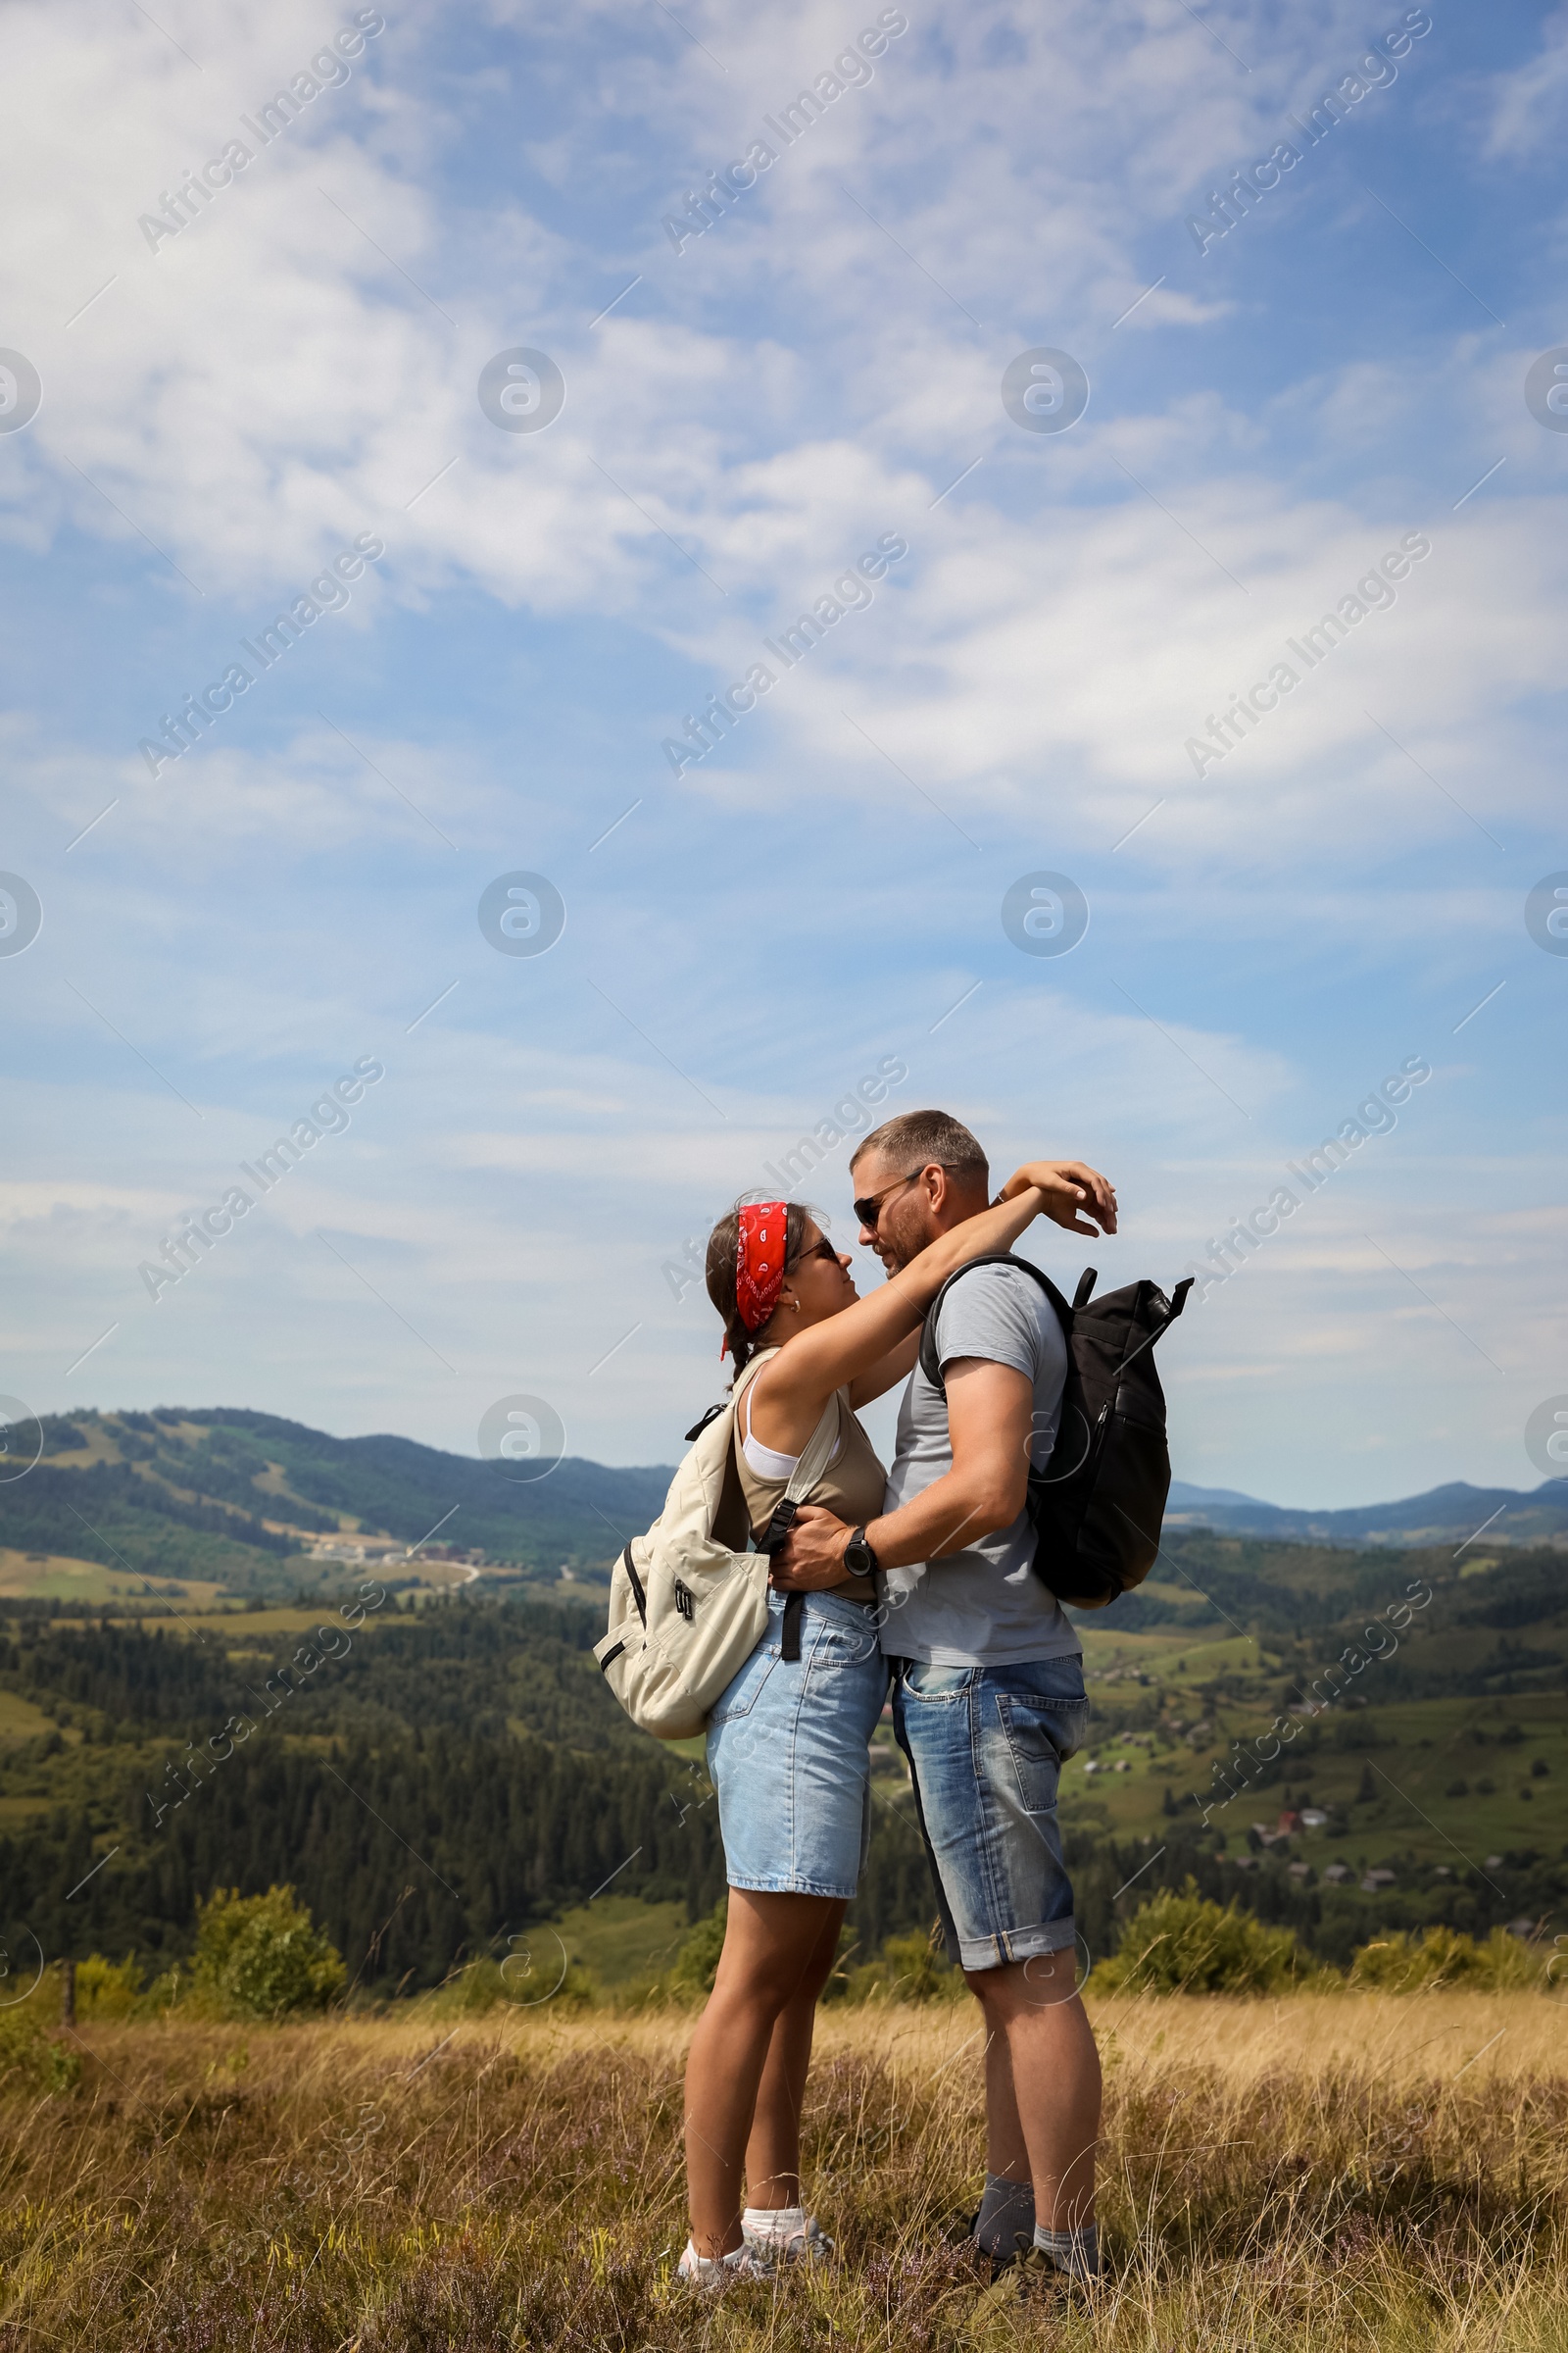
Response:
[[[1171,1492],[1166,1393],[1154,1372],[1154,1341],[1187,1306],[1192,1275],[1171,1299],[1154,1282],[1128,1282],[1088,1304],[1093,1266],[1072,1306],[1056,1282],[1011,1252],[971,1259],[947,1275],[926,1311],[919,1369],[943,1391],[936,1360],[936,1311],[976,1266],[1018,1266],[1039,1282],[1067,1339],[1063,1417],[1044,1471],[1030,1464],[1027,1513],[1034,1527],[1034,1574],[1074,1609],[1105,1609],[1140,1586],[1159,1555],[1159,1527]]]

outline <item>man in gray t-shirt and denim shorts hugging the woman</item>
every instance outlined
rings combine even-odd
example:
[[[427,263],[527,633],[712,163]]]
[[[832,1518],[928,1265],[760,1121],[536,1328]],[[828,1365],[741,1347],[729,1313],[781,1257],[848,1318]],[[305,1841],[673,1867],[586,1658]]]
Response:
[[[1070,1233],[1117,1231],[1117,1195],[1065,1162]],[[987,1202],[985,1153],[943,1111],[910,1111],[851,1160],[860,1242],[889,1275]],[[1088,1219],[1095,1219],[1091,1224]],[[802,1506],[776,1584],[884,1572],[893,1732],[938,1885],[947,1953],[985,2017],[985,2198],[976,2240],[1001,2268],[1093,2278],[1100,2059],[1077,1998],[1072,1887],[1056,1786],[1088,1722],[1079,1635],[1030,1562],[1030,1459],[1060,1419],[1067,1344],[1032,1275],[976,1266],[936,1325],[943,1388],[914,1365],[884,1513],[851,1529]]]

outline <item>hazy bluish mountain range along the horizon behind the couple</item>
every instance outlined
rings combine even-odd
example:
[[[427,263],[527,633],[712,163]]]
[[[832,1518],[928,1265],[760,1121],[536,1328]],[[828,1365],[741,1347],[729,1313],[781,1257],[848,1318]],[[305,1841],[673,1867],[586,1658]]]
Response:
[[[24,1435],[5,1433],[7,1457],[24,1452]],[[101,1572],[99,1584],[110,1579],[106,1593],[125,1593],[129,1574],[282,1595],[341,1577],[346,1558],[402,1577],[440,1558],[447,1581],[480,1572],[602,1581],[625,1539],[656,1518],[670,1475],[668,1464],[567,1457],[520,1478],[411,1438],[331,1438],[247,1407],[49,1414],[38,1464],[0,1480],[0,1555],[9,1555],[0,1581],[63,1595],[75,1579],[89,1598],[78,1562]],[[1352,1511],[1295,1511],[1175,1480],[1166,1527],[1340,1548],[1561,1544],[1568,1480],[1533,1494],[1455,1480]]]

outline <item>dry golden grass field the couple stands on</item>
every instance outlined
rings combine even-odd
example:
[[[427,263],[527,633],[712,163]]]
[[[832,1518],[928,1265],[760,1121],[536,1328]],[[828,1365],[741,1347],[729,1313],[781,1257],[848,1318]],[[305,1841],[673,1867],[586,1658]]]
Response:
[[[1100,2002],[1107,2275],[1063,2311],[945,2235],[980,2181],[969,2002],[823,2017],[837,2259],[717,2304],[670,2285],[686,2014],[82,2026],[80,2080],[0,2078],[0,2346],[1561,2353],[1566,2024],[1526,1993]]]

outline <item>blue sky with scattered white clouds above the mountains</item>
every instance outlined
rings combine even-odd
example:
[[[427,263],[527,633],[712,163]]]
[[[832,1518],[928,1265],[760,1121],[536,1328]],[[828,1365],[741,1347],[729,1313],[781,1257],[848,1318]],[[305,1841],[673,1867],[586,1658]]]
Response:
[[[672,1461],[940,1106],[1178,1478],[1554,1468],[1568,12],[7,35],[12,1400]]]

